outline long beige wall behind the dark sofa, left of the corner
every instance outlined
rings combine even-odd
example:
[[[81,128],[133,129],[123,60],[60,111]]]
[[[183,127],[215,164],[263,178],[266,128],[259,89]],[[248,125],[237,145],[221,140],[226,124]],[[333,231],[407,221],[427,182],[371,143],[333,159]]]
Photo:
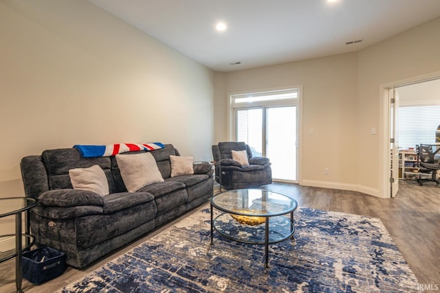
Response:
[[[0,197],[23,156],[173,143],[211,159],[214,73],[88,1],[0,1]]]

